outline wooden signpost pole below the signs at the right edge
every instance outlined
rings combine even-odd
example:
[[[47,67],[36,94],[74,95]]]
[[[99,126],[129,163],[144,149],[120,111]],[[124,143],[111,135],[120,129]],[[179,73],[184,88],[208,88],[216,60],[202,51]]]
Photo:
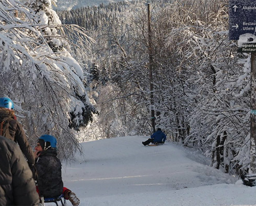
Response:
[[[251,139],[256,142],[256,53],[251,53]]]

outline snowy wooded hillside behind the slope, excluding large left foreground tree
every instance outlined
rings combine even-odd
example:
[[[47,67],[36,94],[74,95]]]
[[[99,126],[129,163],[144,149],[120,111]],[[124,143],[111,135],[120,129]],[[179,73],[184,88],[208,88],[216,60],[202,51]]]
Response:
[[[172,141],[202,150],[227,173],[248,171],[250,58],[228,38],[228,1],[155,0],[151,7],[153,105],[145,3],[58,12],[63,24],[78,24],[95,40],[83,45],[87,55],[73,48],[99,112],[86,135],[149,135],[154,108],[156,127]]]

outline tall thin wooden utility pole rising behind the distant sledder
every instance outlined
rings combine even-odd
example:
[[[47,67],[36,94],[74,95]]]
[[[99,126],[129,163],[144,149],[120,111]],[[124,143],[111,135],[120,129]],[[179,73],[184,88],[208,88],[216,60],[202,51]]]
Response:
[[[149,57],[149,87],[150,87],[150,110],[151,110],[151,122],[153,127],[153,132],[156,131],[155,129],[155,110],[154,110],[154,92],[153,92],[153,71],[152,71],[152,64],[153,64],[153,55],[152,55],[152,32],[150,26],[150,4],[147,4],[147,20],[148,20],[148,57]]]

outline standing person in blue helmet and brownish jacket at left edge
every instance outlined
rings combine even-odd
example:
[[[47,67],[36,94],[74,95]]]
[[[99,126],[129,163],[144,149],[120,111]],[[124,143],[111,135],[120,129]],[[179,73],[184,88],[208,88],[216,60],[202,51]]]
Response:
[[[14,114],[14,104],[8,97],[0,98],[0,135],[19,144],[33,172],[35,164],[34,153],[28,143],[22,125],[17,121]]]

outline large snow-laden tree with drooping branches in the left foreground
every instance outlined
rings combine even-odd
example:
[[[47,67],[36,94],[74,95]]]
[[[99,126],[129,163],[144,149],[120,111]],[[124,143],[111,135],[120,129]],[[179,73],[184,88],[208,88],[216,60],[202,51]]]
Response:
[[[16,104],[32,142],[55,135],[61,157],[78,146],[74,132],[92,121],[95,109],[84,87],[84,72],[58,33],[61,21],[51,1],[0,2],[1,96]],[[86,36],[85,36],[86,38]],[[65,151],[65,152],[64,152]]]

